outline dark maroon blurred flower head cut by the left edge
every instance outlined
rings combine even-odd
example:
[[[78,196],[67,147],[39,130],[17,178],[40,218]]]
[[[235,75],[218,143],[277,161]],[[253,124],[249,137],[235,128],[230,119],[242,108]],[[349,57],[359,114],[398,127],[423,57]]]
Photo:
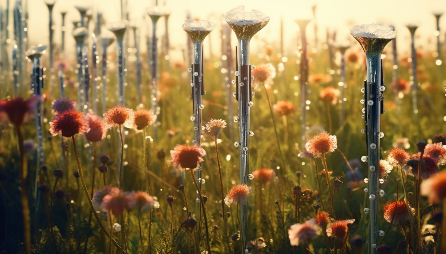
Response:
[[[0,123],[4,123],[6,118],[8,118],[13,125],[21,125],[33,115],[37,103],[41,99],[41,96],[35,95],[29,97],[28,100],[24,100],[21,97],[12,100],[0,100]]]

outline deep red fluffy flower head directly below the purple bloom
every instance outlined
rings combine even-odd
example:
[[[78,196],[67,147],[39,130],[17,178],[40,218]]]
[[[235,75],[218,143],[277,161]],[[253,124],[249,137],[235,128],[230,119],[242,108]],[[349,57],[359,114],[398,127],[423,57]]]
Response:
[[[69,110],[57,114],[50,122],[50,133],[56,136],[62,132],[63,137],[72,137],[77,133],[88,132],[90,128],[84,119],[83,113],[75,110]]]

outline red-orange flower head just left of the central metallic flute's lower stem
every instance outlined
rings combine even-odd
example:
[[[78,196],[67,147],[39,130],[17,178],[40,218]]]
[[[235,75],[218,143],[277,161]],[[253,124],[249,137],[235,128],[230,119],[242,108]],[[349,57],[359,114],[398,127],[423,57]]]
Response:
[[[172,165],[180,170],[195,169],[198,163],[204,161],[206,155],[204,149],[198,145],[176,145],[170,151]]]

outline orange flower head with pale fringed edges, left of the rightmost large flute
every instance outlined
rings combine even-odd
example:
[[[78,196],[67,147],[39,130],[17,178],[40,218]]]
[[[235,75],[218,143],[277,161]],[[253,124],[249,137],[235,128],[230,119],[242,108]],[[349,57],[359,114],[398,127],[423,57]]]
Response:
[[[333,153],[338,148],[338,141],[335,135],[330,135],[323,131],[307,140],[306,150],[314,157],[321,156],[323,153]]]

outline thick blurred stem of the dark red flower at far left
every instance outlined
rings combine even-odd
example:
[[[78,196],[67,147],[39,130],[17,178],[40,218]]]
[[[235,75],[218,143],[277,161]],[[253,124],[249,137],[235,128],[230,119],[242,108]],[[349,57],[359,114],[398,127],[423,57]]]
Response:
[[[19,155],[20,155],[20,181],[21,181],[21,202],[22,202],[22,213],[23,213],[23,227],[25,234],[25,251],[27,254],[31,253],[31,218],[29,216],[29,204],[28,196],[26,194],[26,172],[23,165],[25,160],[25,148],[23,146],[23,134],[21,132],[20,126],[15,126],[17,133],[17,142],[19,145]]]

